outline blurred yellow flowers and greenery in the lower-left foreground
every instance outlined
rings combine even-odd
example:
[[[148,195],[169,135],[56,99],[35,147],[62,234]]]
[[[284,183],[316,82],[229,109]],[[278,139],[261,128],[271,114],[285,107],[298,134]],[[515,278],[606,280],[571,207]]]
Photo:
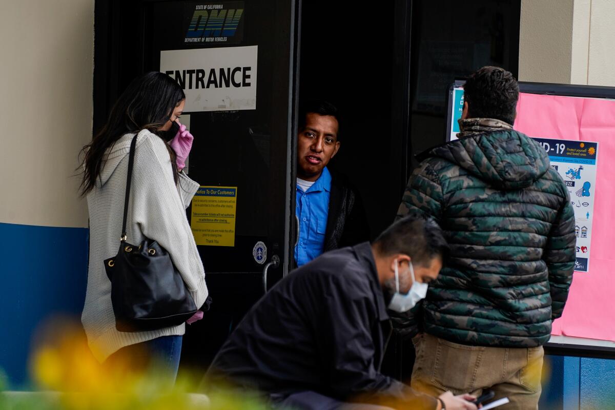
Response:
[[[266,409],[258,396],[228,386],[216,385],[207,396],[192,394],[202,374],[186,372],[173,386],[155,365],[135,368],[125,358],[102,366],[92,355],[81,326],[74,323],[52,323],[44,336],[31,357],[31,372],[42,390],[56,392],[52,396],[60,403],[60,407],[46,409]]]

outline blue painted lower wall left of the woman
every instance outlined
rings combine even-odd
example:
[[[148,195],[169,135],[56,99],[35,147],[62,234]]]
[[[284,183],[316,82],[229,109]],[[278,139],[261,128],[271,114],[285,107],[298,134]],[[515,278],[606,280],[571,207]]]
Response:
[[[88,229],[0,223],[0,368],[28,382],[34,332],[55,315],[79,318],[87,283]]]

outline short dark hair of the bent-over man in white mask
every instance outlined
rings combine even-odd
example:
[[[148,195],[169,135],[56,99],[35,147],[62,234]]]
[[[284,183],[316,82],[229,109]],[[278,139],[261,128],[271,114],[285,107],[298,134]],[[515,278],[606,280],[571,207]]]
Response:
[[[442,229],[424,215],[408,215],[387,227],[376,238],[374,245],[383,255],[407,254],[414,264],[428,266],[436,257],[445,261],[448,243]]]

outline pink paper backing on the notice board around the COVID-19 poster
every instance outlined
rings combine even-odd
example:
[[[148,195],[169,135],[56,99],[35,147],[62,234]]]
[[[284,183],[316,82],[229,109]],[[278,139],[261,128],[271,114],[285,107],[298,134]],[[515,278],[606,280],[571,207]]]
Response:
[[[575,272],[553,334],[615,341],[615,101],[522,93],[515,129],[598,142],[590,272]]]

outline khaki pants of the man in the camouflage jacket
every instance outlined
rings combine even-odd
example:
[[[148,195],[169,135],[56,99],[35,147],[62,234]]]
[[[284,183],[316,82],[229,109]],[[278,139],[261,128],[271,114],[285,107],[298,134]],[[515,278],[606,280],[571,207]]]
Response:
[[[508,397],[507,410],[538,409],[541,393],[542,347],[504,348],[451,343],[419,334],[412,388],[432,396],[446,391],[481,395],[493,390],[493,400]]]

